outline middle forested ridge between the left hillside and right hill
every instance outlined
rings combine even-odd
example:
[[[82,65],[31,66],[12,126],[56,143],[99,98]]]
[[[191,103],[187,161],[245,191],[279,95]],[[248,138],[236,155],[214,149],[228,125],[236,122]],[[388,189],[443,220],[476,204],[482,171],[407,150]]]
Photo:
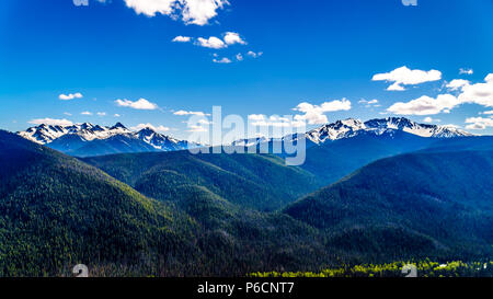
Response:
[[[261,154],[134,153],[84,159],[147,196],[169,200],[182,185],[203,186],[230,203],[282,208],[322,184],[312,174]]]

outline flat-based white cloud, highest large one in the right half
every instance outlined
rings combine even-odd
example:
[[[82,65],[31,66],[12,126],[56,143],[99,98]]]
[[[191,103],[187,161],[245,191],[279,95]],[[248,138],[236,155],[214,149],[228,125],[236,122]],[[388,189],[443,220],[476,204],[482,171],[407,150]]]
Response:
[[[442,79],[442,72],[438,70],[411,70],[408,67],[401,67],[387,73],[377,73],[372,81],[393,82],[387,90],[404,91],[404,85],[416,85],[425,82],[437,81]]]

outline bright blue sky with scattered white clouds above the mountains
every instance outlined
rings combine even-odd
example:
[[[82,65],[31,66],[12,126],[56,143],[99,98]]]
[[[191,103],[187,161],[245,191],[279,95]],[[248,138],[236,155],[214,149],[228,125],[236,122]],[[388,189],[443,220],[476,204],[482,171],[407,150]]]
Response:
[[[122,122],[185,139],[176,112],[220,105],[309,127],[405,116],[493,134],[491,0],[204,1],[1,1],[0,128]]]

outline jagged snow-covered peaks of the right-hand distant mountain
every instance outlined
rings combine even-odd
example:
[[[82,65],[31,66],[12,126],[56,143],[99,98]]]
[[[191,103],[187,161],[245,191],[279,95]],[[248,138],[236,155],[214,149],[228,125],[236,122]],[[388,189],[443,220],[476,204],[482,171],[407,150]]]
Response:
[[[359,119],[348,118],[345,120],[337,120],[333,124],[328,124],[308,131],[305,136],[314,143],[323,143],[328,140],[337,140],[343,138],[351,138],[359,134],[392,134],[397,130],[402,130],[427,138],[454,138],[472,136],[465,130],[450,126],[436,126],[417,124],[404,117],[387,117],[380,119],[370,119],[363,123]]]

